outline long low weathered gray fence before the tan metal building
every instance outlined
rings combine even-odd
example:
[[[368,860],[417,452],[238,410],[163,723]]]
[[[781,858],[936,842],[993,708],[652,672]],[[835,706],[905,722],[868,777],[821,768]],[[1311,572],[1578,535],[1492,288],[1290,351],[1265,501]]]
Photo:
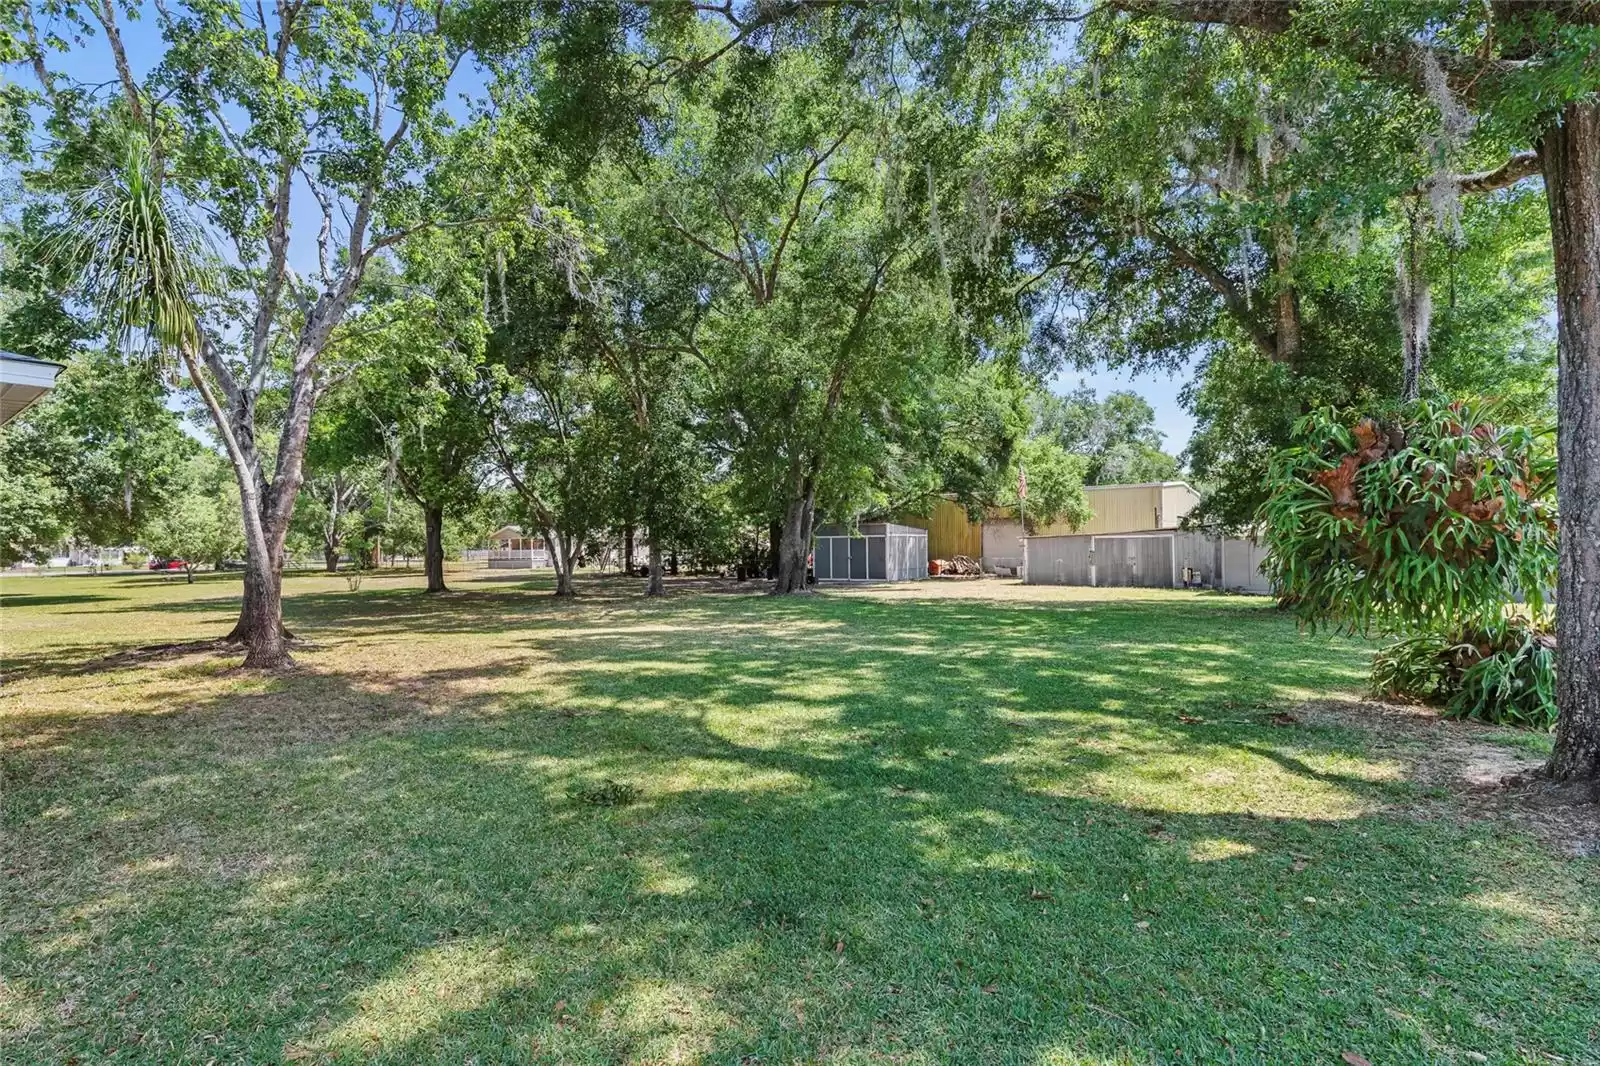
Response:
[[[1266,549],[1243,538],[1184,530],[1150,533],[1030,536],[1024,541],[1024,584],[1094,587],[1237,589],[1267,595]]]

